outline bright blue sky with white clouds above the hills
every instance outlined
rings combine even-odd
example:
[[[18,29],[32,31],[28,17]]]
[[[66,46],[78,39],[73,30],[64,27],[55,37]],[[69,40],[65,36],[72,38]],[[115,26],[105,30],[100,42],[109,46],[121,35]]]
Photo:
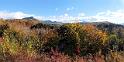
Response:
[[[21,16],[32,15],[39,19],[52,20],[56,20],[57,17],[59,20],[61,19],[60,17],[67,20],[71,17],[71,20],[73,20],[73,17],[78,18],[80,15],[80,17],[82,16],[81,19],[88,19],[89,21],[90,19],[98,18],[99,13],[102,13],[102,17],[101,15],[99,16],[104,19],[108,16],[108,12],[111,13],[109,15],[113,16],[112,13],[114,13],[114,15],[117,12],[121,14],[123,10],[124,0],[0,0],[1,18],[4,13],[8,16],[11,15],[10,17],[12,17],[14,13],[19,13]],[[103,13],[105,16],[103,16]],[[5,18],[5,14],[3,18]],[[115,16],[117,15],[118,14]],[[123,18],[123,15],[121,14],[119,17]],[[63,19],[62,22],[64,22],[65,19]]]

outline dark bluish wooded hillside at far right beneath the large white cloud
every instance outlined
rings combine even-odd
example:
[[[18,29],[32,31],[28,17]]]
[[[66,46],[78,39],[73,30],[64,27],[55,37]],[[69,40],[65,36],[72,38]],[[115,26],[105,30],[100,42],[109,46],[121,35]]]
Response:
[[[92,24],[108,34],[116,34],[119,38],[124,38],[124,25],[114,24],[111,22],[94,22]]]

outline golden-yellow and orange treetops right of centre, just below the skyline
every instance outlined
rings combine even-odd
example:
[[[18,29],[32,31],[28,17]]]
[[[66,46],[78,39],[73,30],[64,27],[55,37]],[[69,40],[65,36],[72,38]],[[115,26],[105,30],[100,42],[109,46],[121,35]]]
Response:
[[[87,41],[94,41],[94,42],[101,41],[104,44],[107,40],[106,32],[97,29],[95,26],[91,24],[81,25],[78,23],[75,24],[73,23],[73,24],[67,24],[65,26],[78,33],[78,36],[79,35],[81,35],[81,37],[83,36],[84,39]]]

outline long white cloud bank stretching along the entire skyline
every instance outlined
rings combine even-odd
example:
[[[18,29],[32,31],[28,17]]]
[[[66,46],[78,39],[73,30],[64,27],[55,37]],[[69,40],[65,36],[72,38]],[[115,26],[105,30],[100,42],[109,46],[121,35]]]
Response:
[[[72,22],[102,22],[102,21],[108,21],[112,23],[124,23],[124,10],[117,10],[117,11],[104,11],[104,12],[98,12],[94,16],[86,16],[85,13],[79,13],[77,16],[71,16],[69,14],[63,14],[60,16],[36,16],[32,14],[26,14],[21,11],[17,12],[8,12],[8,11],[0,11],[0,18],[4,19],[22,19],[24,17],[33,16],[39,20],[52,20],[52,21],[58,21],[63,23],[72,23]]]

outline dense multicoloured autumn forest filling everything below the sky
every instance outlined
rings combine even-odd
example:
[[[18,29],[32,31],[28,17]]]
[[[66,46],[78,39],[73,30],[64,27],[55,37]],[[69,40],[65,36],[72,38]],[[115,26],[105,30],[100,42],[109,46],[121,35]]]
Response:
[[[0,19],[0,62],[124,62],[124,26]]]

